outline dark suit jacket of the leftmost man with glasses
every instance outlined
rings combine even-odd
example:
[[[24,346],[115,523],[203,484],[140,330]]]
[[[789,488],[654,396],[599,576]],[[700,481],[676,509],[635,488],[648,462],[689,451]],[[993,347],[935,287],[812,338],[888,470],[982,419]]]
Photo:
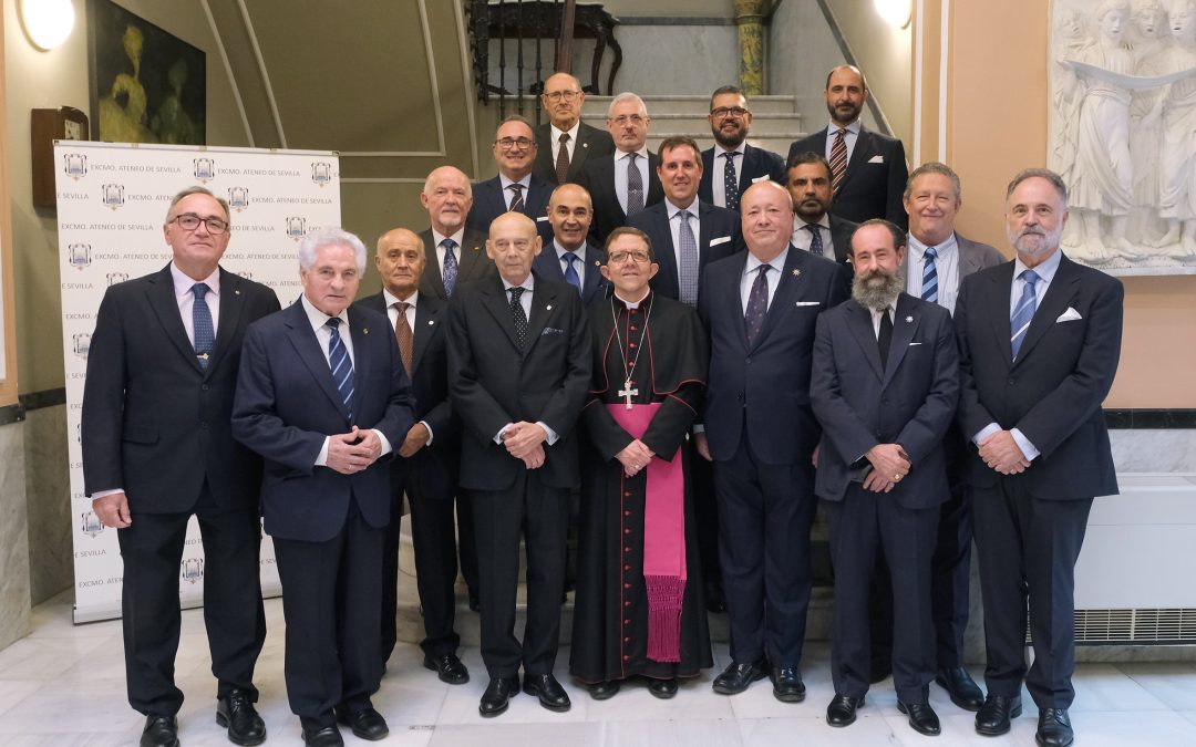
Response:
[[[256,508],[261,458],[232,439],[242,339],[277,311],[274,292],[220,270],[215,351],[201,368],[187,338],[170,265],[104,293],[84,385],[87,495],[123,489],[129,510],[190,510],[207,480],[226,508]]]

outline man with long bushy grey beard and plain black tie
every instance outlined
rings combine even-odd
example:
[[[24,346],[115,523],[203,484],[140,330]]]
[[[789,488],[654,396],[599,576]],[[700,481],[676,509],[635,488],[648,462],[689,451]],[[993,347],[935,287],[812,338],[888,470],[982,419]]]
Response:
[[[810,402],[823,427],[814,492],[830,523],[835,567],[826,722],[846,727],[869,680],[868,587],[889,559],[893,688],[914,730],[936,735],[930,708],[934,623],[930,557],[948,497],[942,439],[959,398],[951,314],[905,293],[904,232],[860,224],[849,244],[852,300],[823,313],[814,335]]]

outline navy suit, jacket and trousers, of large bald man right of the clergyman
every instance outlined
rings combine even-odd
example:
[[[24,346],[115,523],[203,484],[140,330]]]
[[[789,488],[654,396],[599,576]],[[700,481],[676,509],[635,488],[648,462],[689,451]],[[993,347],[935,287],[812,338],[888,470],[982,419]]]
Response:
[[[789,246],[749,345],[739,290],[748,256],[712,264],[697,304],[710,332],[703,424],[715,461],[731,657],[753,663],[767,655],[774,667],[797,667],[810,604],[810,460],[822,433],[810,408],[814,320],[847,299],[847,282],[834,262]]]

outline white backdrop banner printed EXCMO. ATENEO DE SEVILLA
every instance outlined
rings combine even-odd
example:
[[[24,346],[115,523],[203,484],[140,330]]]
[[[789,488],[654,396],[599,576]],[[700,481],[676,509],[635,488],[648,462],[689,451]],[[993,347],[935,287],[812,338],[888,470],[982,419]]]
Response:
[[[67,442],[74,522],[75,623],[121,616],[121,551],[84,495],[79,417],[87,351],[105,289],[170,262],[163,237],[170,198],[200,184],[228,201],[232,237],[225,269],[266,283],[282,306],[301,293],[297,247],[310,231],[341,224],[340,163],[334,152],[128,146],[60,141],[59,255]],[[195,519],[178,569],[183,606],[203,600],[203,544]],[[274,547],[262,540],[263,594],[279,593]]]

